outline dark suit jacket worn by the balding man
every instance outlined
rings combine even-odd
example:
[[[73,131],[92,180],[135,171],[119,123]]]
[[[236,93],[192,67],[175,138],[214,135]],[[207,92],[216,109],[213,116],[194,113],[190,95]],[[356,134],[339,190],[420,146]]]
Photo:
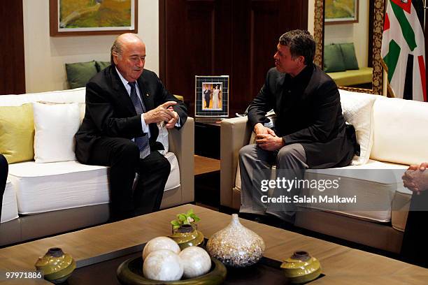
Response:
[[[141,99],[146,110],[152,110],[166,101],[176,101],[173,109],[180,116],[180,126],[185,124],[187,110],[182,101],[170,94],[157,75],[145,69],[137,80]],[[150,149],[163,149],[156,142],[159,130],[149,124]],[[125,89],[115,66],[108,66],[97,73],[86,85],[86,110],[80,129],[76,133],[76,156],[80,162],[89,159],[92,145],[101,137],[136,138],[146,136],[131,98]]]

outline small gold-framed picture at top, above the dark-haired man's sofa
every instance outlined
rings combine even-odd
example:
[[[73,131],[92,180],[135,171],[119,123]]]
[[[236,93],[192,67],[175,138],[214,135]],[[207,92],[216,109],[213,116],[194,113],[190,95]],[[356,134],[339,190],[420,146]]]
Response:
[[[359,0],[325,0],[325,24],[352,24],[358,22]]]

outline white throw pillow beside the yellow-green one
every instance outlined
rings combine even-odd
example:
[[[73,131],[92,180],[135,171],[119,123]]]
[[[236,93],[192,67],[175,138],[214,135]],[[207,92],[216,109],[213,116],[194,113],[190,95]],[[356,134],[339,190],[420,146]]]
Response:
[[[36,163],[73,161],[74,135],[80,126],[78,103],[33,103]]]

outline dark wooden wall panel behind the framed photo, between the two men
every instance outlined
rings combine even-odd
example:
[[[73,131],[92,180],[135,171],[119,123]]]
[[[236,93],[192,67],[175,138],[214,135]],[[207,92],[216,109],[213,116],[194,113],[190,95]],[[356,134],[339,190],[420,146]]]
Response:
[[[234,117],[275,65],[279,36],[307,29],[307,14],[307,0],[160,0],[160,77],[193,115],[194,75],[230,75]]]

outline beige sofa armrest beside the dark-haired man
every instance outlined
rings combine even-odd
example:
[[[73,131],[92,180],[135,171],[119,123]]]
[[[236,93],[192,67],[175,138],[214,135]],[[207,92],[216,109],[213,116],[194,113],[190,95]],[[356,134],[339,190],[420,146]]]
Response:
[[[248,145],[252,130],[248,117],[224,119],[220,124],[220,205],[232,207],[238,152]]]

